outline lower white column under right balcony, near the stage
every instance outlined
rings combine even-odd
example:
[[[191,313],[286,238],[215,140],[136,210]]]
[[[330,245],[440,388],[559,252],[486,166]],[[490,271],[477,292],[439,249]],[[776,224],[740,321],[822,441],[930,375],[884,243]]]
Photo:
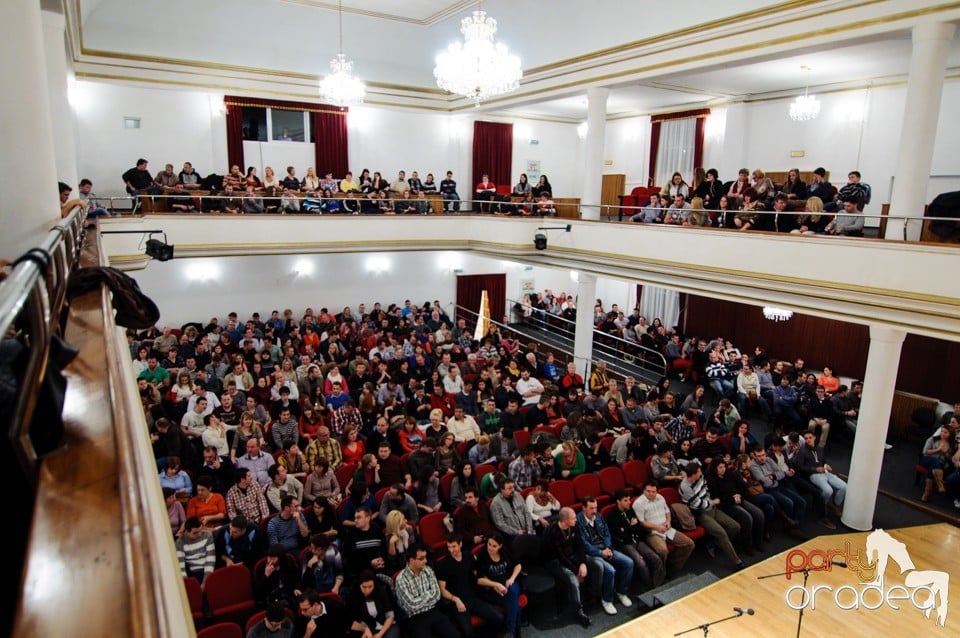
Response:
[[[863,398],[841,517],[844,525],[860,531],[873,529],[884,443],[905,336],[902,330],[870,326],[867,372],[863,377]]]

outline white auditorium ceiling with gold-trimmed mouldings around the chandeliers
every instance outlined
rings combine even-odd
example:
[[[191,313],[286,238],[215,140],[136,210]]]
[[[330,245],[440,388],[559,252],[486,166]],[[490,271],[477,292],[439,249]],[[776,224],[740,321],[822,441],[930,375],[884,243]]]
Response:
[[[56,0],[43,0],[45,7]],[[63,0],[79,78],[309,97],[338,50],[329,0]],[[344,0],[343,48],[371,104],[456,112],[436,54],[459,39],[470,0]],[[487,0],[524,81],[488,112],[586,117],[586,89],[611,88],[610,117],[905,81],[911,29],[960,22],[936,0]],[[809,74],[801,67],[810,67]],[[949,76],[960,76],[960,37]]]

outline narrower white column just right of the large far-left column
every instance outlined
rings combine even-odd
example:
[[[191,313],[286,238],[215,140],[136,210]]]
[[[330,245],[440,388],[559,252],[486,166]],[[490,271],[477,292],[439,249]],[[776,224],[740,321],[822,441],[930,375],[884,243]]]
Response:
[[[47,91],[50,94],[50,124],[54,139],[57,179],[73,186],[77,194],[77,147],[73,134],[73,111],[67,99],[67,53],[63,15],[41,11],[46,55]]]

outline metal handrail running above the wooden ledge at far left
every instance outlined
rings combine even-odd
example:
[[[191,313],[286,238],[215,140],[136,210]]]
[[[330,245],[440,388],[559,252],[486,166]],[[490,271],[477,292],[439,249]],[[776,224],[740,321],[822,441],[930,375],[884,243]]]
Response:
[[[37,392],[46,373],[50,337],[62,332],[61,310],[66,301],[67,277],[77,263],[85,212],[75,208],[47,234],[33,251],[48,255],[46,272],[36,261],[16,264],[0,282],[0,334],[27,346],[27,362],[10,422],[3,424],[14,454],[31,484],[36,482],[39,455],[30,438]]]

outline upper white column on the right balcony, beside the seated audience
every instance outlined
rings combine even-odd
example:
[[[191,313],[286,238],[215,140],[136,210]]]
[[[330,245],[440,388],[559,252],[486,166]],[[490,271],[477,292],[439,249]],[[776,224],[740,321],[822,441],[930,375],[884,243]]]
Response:
[[[907,79],[907,103],[900,130],[890,215],[922,217],[933,165],[933,144],[943,95],[943,76],[956,26],[929,22],[913,28],[913,52]],[[903,239],[905,220],[887,221],[886,239]],[[920,239],[922,222],[910,220],[906,238]]]

